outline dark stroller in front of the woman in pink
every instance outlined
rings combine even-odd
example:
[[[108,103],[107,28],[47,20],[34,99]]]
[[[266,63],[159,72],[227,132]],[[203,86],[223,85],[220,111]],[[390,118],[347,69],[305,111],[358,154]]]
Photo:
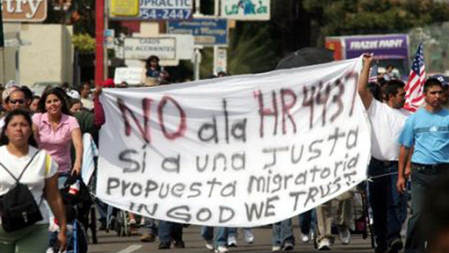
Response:
[[[60,189],[62,201],[67,219],[67,253],[86,253],[88,251],[88,239],[85,227],[89,223],[89,214],[93,201],[87,186],[79,177],[69,176],[64,187]],[[53,228],[56,231],[57,223]],[[53,252],[58,252],[56,243],[58,233],[50,235],[50,247]],[[50,249],[47,252],[52,252]]]

